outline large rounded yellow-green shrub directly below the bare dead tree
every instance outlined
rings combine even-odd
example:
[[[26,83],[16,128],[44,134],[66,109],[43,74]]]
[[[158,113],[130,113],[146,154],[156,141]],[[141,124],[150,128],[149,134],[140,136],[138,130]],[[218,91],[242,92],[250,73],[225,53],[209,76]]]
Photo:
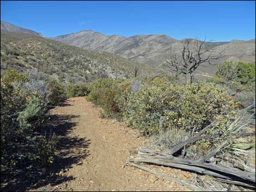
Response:
[[[155,79],[137,92],[126,90],[120,106],[124,120],[147,133],[171,127],[195,132],[214,120],[218,123],[211,131],[221,131],[237,108],[227,91],[217,85],[199,82],[178,86],[164,78]]]

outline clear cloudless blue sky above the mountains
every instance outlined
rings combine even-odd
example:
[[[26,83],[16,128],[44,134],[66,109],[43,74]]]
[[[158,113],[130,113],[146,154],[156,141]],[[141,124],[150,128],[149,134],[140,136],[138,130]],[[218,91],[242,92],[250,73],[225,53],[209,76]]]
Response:
[[[1,1],[1,21],[52,37],[80,30],[255,39],[255,1]]]

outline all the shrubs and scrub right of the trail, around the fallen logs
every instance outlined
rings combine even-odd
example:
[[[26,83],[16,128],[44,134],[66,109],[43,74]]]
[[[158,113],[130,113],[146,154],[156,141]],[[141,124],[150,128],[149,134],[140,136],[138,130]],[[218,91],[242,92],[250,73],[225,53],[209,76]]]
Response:
[[[255,65],[239,63],[239,66],[234,78],[236,86],[255,88]],[[211,126],[205,134],[223,136],[186,146],[187,157],[200,158],[220,140],[227,140],[230,146],[241,144],[241,140],[226,134],[255,128],[255,89],[234,90],[223,79],[216,79],[222,76],[217,73],[208,80],[210,83],[197,81],[184,85],[166,77],[99,79],[89,86],[87,100],[102,108],[102,117],[126,122],[154,138],[154,145],[160,148],[173,147]]]

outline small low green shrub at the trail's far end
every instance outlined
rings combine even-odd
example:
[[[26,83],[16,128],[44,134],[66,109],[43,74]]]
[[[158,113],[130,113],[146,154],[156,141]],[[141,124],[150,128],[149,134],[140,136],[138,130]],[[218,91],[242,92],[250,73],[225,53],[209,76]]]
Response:
[[[67,97],[87,96],[88,87],[86,84],[69,84],[65,88]]]

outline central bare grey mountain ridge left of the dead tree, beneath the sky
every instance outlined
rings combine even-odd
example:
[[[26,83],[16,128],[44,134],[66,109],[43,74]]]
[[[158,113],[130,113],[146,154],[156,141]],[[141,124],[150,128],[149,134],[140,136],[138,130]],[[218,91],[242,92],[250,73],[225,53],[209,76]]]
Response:
[[[108,36],[92,30],[82,30],[52,39],[77,47],[111,52],[137,63],[143,63],[148,58],[163,53],[168,45],[178,41],[167,35],[136,35],[125,38],[119,35]]]

